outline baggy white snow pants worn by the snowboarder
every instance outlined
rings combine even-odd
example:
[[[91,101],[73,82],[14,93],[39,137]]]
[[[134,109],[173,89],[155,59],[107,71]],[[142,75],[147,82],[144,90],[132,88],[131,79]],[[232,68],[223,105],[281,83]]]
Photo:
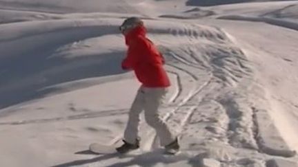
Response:
[[[132,107],[130,108],[128,124],[124,132],[124,140],[135,144],[139,132],[141,111],[145,112],[146,122],[152,126],[159,136],[161,146],[170,144],[175,136],[170,132],[166,123],[159,117],[159,107],[168,92],[167,88],[148,88],[141,86],[137,91]]]

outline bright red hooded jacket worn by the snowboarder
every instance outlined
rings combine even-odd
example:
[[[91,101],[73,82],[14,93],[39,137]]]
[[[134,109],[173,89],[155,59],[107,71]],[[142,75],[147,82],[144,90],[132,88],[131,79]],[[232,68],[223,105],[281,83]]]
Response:
[[[133,69],[144,87],[169,87],[170,80],[163,69],[163,56],[146,38],[146,28],[136,27],[125,37],[128,52],[122,61],[122,68]]]

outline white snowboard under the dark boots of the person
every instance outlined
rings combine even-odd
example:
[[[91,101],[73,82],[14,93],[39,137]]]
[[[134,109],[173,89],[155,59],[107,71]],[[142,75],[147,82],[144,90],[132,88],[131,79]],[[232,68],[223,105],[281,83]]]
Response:
[[[130,151],[128,153],[136,153],[136,152],[139,152],[138,150],[139,149],[134,150],[134,151]],[[162,150],[162,153],[164,155],[178,155],[180,153],[180,151],[175,151],[175,150],[168,150],[168,151],[165,151],[163,149],[161,149],[161,150]],[[116,151],[115,146],[104,145],[104,144],[99,144],[99,143],[90,144],[89,151],[91,151],[92,153],[95,153],[95,154],[114,154],[114,153],[118,153]]]

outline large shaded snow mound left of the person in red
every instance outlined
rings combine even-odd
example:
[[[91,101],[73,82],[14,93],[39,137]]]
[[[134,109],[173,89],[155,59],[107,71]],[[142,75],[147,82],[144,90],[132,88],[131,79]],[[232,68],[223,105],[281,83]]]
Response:
[[[39,89],[61,82],[123,73],[119,63],[124,45],[117,44],[120,36],[113,35],[118,33],[118,22],[87,19],[2,25],[3,32],[11,33],[0,38],[0,91],[11,96],[1,96],[1,106],[32,98]],[[97,40],[97,36],[103,37]],[[92,48],[88,38],[95,38],[92,44],[98,47]]]

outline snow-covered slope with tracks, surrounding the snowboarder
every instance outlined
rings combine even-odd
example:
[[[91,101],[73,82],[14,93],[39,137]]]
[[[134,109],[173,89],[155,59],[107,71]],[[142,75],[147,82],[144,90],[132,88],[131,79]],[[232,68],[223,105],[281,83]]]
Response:
[[[297,166],[298,3],[190,3],[0,1],[0,165]],[[120,68],[128,16],[166,58],[161,116],[179,155],[162,155],[145,122],[138,151],[86,151],[121,144],[139,87]]]

